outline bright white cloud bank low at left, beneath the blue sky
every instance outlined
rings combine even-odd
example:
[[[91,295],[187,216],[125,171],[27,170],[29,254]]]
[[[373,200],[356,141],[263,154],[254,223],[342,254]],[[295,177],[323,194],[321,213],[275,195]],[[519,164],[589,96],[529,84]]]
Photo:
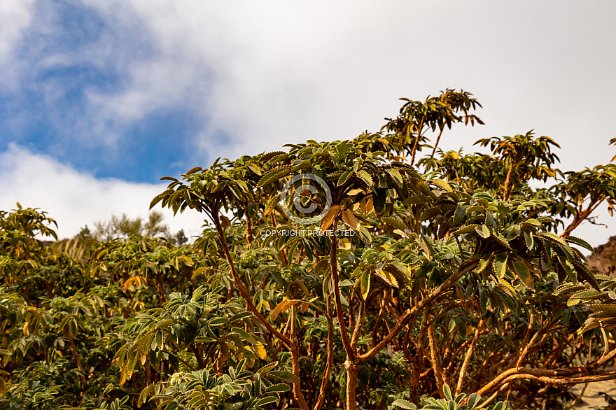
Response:
[[[16,202],[40,208],[57,221],[59,238],[71,237],[85,225],[92,229],[92,222],[109,220],[112,214],[146,218],[151,200],[166,186],[98,180],[15,144],[0,153],[0,209],[14,209]],[[155,209],[160,211],[160,206]],[[174,217],[168,209],[162,212],[172,232],[200,234],[200,213],[189,209]]]

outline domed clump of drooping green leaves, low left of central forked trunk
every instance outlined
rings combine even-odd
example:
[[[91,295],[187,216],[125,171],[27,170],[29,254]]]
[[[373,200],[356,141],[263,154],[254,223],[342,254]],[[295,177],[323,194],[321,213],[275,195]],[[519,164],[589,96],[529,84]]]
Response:
[[[221,290],[206,292],[200,286],[191,297],[174,292],[163,308],[150,309],[124,325],[123,332],[130,330],[136,337],[116,353],[120,383],[130,379],[139,362],[157,369],[160,360],[168,360],[175,369],[195,370],[220,368],[234,356],[249,364],[257,356],[265,358],[263,342],[252,334],[252,313],[237,299],[223,302]]]

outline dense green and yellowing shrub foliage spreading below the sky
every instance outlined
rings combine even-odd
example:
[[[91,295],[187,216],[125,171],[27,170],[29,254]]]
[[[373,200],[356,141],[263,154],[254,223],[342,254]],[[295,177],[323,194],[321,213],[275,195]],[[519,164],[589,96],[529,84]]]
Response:
[[[559,171],[533,132],[438,150],[478,106],[162,178],[151,208],[207,217],[189,244],[45,246],[46,213],[0,211],[0,409],[559,409],[616,379],[616,281],[570,236],[614,165]]]

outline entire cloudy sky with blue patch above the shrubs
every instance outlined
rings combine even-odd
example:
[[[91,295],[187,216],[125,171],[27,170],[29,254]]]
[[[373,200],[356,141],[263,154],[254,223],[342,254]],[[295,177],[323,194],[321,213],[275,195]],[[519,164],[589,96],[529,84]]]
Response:
[[[556,4],[558,7],[556,7]],[[559,168],[608,163],[613,1],[0,0],[0,209],[47,211],[59,236],[146,216],[216,157],[353,139],[399,99],[472,92],[485,125],[444,150],[531,129]],[[195,211],[165,222],[200,232]],[[606,208],[574,231],[616,234]]]

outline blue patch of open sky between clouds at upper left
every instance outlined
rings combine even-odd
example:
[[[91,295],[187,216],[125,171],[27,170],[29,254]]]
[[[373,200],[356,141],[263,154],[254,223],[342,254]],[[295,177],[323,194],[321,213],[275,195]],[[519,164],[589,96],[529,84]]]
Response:
[[[188,101],[121,125],[110,116],[99,125],[101,131],[90,133],[88,96],[118,94],[129,85],[123,60],[160,58],[144,27],[118,26],[74,1],[35,3],[31,13],[42,27],[25,30],[14,50],[29,66],[17,90],[0,94],[0,150],[18,143],[97,178],[132,182],[158,181],[198,160],[190,138],[207,118]],[[109,49],[108,55],[97,55],[101,49]],[[110,141],[104,133],[116,135]]]

